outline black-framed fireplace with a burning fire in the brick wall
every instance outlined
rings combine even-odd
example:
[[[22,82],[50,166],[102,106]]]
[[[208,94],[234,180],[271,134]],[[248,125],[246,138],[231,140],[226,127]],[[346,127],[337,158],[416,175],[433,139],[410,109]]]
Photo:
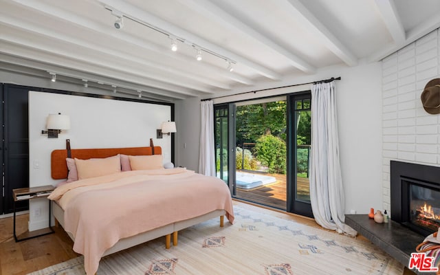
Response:
[[[440,167],[391,161],[391,219],[423,236],[440,227]]]

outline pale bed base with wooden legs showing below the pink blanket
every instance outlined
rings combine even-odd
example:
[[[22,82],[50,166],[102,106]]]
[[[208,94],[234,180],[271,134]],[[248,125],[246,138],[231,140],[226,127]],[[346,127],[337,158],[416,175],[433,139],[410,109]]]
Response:
[[[52,201],[52,213],[54,214],[55,224],[56,226],[61,224],[64,227],[64,210],[61,206],[56,203],[56,201]],[[107,256],[109,254],[113,254],[115,252],[126,250],[127,248],[132,248],[135,245],[140,245],[141,243],[145,243],[147,241],[151,241],[153,239],[157,239],[161,236],[165,236],[165,247],[166,249],[170,248],[171,242],[171,234],[173,234],[173,245],[177,245],[177,232],[184,228],[188,228],[192,225],[196,225],[203,221],[208,221],[210,219],[214,219],[215,217],[220,217],[220,227],[223,227],[224,223],[224,215],[226,214],[225,210],[214,210],[207,214],[203,214],[198,217],[193,217],[191,219],[186,219],[184,221],[177,221],[175,223],[170,223],[168,225],[164,225],[160,228],[156,228],[153,230],[149,230],[135,236],[130,236],[128,238],[120,239],[118,243],[115,243],[111,248],[106,250],[102,256]],[[75,241],[72,233],[67,232],[70,238]]]

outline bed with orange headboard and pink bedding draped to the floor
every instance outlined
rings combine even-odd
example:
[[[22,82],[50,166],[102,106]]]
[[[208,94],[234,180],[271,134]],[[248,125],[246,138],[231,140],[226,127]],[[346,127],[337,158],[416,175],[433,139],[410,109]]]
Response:
[[[116,156],[122,162],[121,156],[128,155],[134,165],[136,159],[143,164],[151,158],[145,156],[161,154],[162,148],[153,144],[70,150],[68,143],[67,149],[52,151],[51,173],[54,179],[67,179],[66,158],[76,159],[78,174],[86,175],[81,159],[88,159],[87,166],[93,168],[94,159],[111,159],[111,166]],[[186,168],[124,170],[80,178],[58,186],[49,199],[56,223],[74,240],[74,251],[84,255],[87,275],[96,274],[102,256],[162,236],[170,248],[171,235],[177,245],[179,230],[215,217],[220,217],[220,226],[224,216],[234,221],[228,186],[221,179]]]

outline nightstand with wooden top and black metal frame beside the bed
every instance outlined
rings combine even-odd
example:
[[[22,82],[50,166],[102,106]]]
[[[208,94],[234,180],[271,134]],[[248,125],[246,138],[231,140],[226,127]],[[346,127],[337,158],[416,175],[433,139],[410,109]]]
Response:
[[[49,227],[43,228],[40,230],[35,230],[32,232],[24,232],[21,234],[21,236],[17,236],[17,233],[15,232],[15,203],[17,201],[23,201],[26,199],[37,199],[42,197],[47,197],[50,195],[50,193],[55,189],[52,185],[47,186],[38,186],[38,187],[31,187],[31,188],[18,188],[18,189],[12,189],[12,194],[14,195],[14,239],[16,242],[18,241],[24,241],[27,239],[32,239],[37,236],[43,236],[46,234],[54,233],[54,230],[50,226],[50,216],[51,216],[51,203],[49,201]]]

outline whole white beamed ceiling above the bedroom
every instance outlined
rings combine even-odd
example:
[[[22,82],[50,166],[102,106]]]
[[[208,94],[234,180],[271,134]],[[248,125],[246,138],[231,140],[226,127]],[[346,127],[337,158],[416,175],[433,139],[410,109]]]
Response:
[[[438,0],[0,0],[0,7],[3,70],[47,79],[53,72],[166,101],[379,61],[440,28]],[[122,14],[120,30],[112,11]]]

